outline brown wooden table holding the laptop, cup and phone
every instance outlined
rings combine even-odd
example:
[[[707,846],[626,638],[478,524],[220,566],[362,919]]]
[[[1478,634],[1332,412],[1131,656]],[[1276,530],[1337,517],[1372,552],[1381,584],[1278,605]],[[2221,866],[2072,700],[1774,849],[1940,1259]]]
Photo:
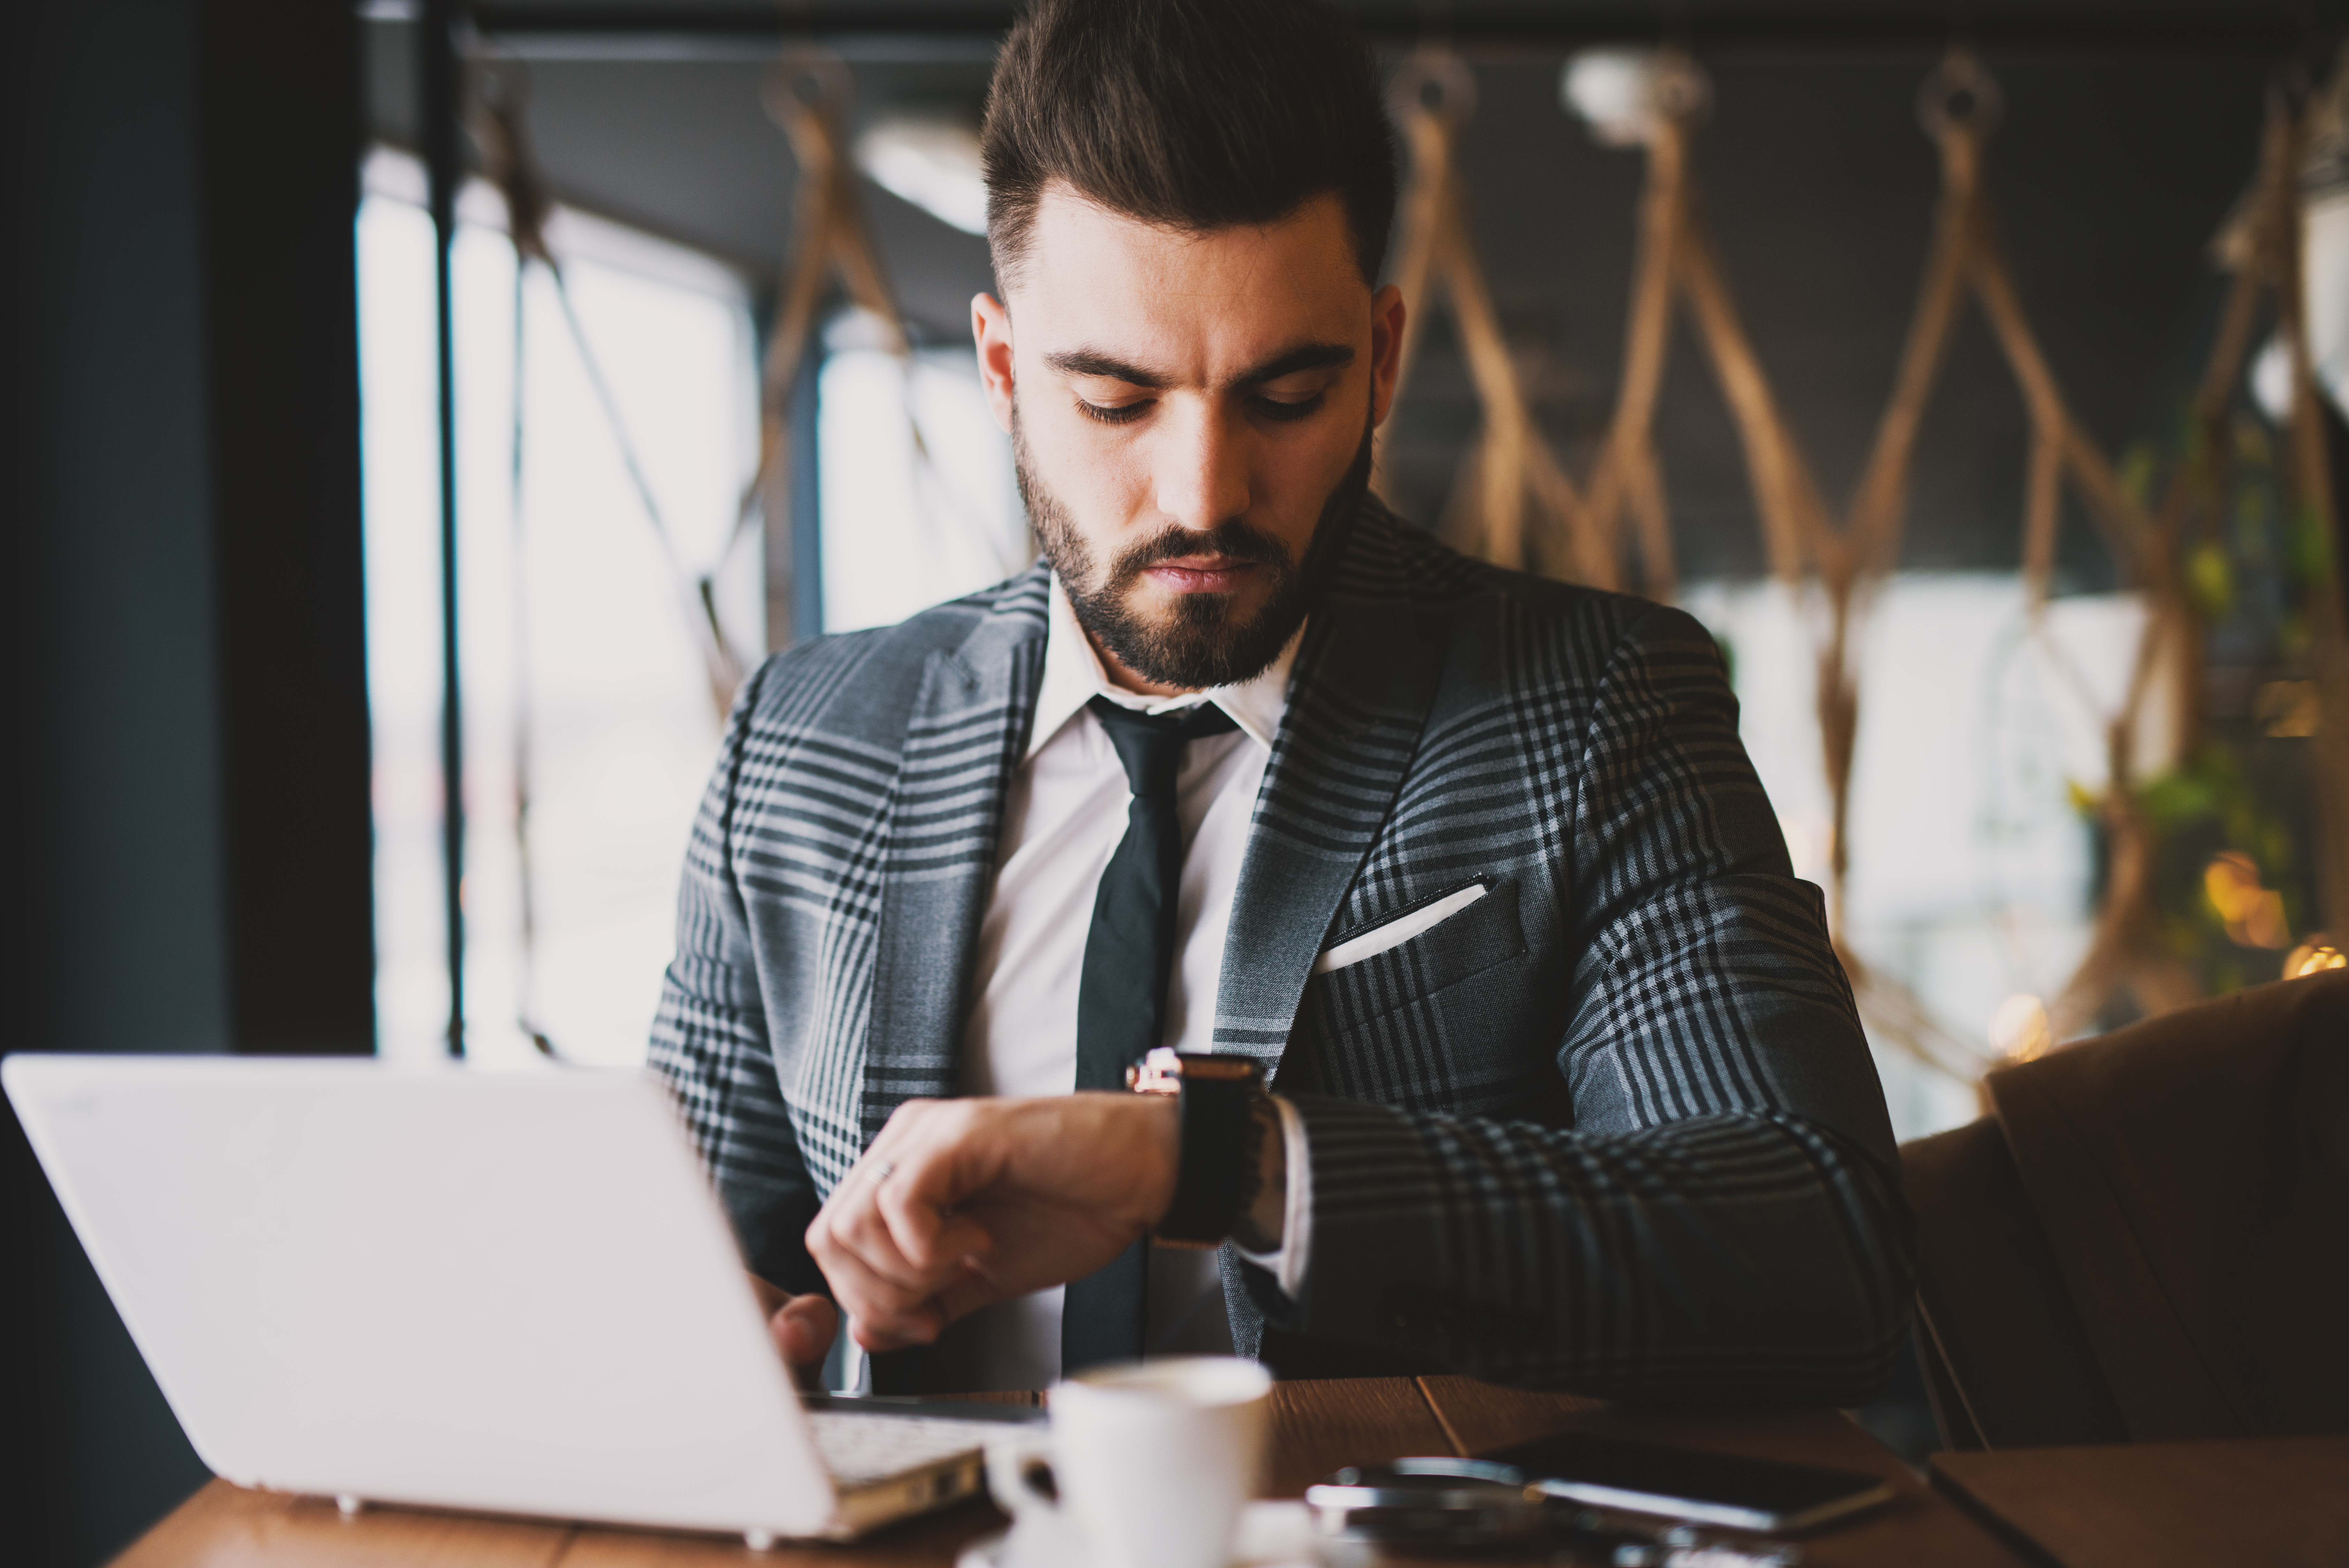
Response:
[[[1741,1415],[1637,1415],[1571,1394],[1525,1394],[1468,1378],[1348,1378],[1273,1389],[1268,1497],[1294,1497],[1341,1465],[1407,1453],[1478,1453],[1550,1432],[1607,1432],[1642,1441],[1781,1458],[1884,1476],[1896,1502],[1804,1540],[1809,1563],[1903,1568],[2015,1568],[1999,1540],[1837,1410]],[[1003,1516],[970,1502],[857,1547],[782,1547],[752,1554],[735,1537],[646,1535],[592,1526],[366,1509],[343,1519],[322,1497],[254,1493],[214,1481],[117,1559],[117,1568],[672,1568],[738,1563],[803,1568],[944,1568]],[[1435,1568],[1435,1559],[1412,1559]],[[1487,1568],[1494,1559],[1480,1559]]]

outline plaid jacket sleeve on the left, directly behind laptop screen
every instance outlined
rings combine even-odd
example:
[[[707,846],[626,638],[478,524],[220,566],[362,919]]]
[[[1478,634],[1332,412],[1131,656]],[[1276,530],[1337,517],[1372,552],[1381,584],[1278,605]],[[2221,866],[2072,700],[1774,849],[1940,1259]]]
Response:
[[[815,1182],[799,1157],[775,1079],[766,1001],[731,853],[742,759],[759,693],[773,672],[775,661],[768,661],[742,686],[693,820],[677,896],[677,957],[662,978],[646,1060],[669,1084],[733,1220],[745,1267],[785,1291],[822,1291],[822,1272],[803,1239],[817,1211]]]

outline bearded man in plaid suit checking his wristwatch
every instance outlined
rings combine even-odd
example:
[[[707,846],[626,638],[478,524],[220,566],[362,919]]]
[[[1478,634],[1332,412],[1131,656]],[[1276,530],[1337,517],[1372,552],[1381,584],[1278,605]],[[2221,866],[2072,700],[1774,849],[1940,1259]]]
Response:
[[[1041,0],[984,146],[1043,562],[749,682],[655,1023],[785,1354],[836,1300],[881,1392],[1231,1347],[1865,1396],[1910,1220],[1710,637],[1367,494],[1409,301],[1360,42]],[[1151,1046],[1217,1056],[1123,1093]]]

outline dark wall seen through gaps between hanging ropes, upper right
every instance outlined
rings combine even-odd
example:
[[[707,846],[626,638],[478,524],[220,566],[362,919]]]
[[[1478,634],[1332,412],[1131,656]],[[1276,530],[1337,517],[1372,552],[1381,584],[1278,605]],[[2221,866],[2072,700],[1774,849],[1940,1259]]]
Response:
[[[1914,52],[1724,52],[1694,174],[1755,353],[1830,508],[1849,501],[1917,303],[1938,153]],[[2208,242],[2253,174],[2262,52],[1990,56],[2006,113],[1990,188],[2025,308],[2072,407],[2112,456],[2166,440],[2194,388],[2222,280]],[[1574,473],[1614,416],[1642,158],[1560,110],[1557,61],[1489,61],[1461,146],[1478,244],[1536,411]],[[1391,433],[1402,508],[1442,510],[1475,402],[1449,320]],[[2030,425],[1968,303],[1919,435],[1903,564],[2015,569]],[[1764,571],[1736,425],[1687,320],[1656,411],[1682,571]],[[2086,522],[2062,588],[2112,588]]]

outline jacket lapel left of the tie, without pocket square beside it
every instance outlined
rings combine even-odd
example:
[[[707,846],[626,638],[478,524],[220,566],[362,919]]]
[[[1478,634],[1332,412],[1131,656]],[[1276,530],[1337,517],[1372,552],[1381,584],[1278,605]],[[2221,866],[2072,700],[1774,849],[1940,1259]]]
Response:
[[[956,1091],[970,950],[987,914],[1003,790],[1043,675],[1045,569],[1017,578],[951,651],[935,651],[890,797],[864,1048],[862,1133],[904,1100]]]

